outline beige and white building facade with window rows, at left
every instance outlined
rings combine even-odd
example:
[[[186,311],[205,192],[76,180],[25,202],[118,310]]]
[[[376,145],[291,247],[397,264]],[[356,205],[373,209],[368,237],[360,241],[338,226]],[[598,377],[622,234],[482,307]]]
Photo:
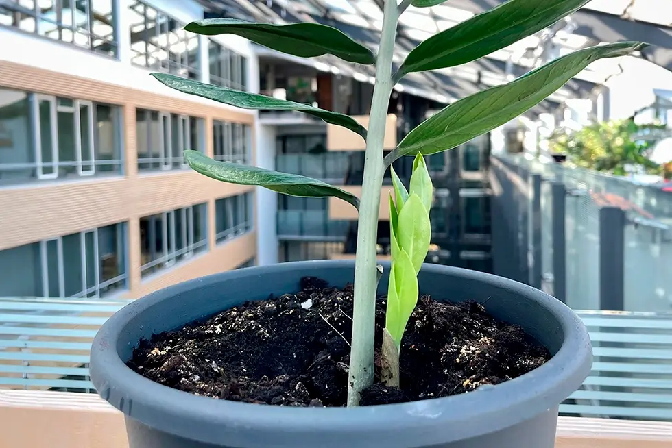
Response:
[[[256,114],[149,75],[257,89],[249,42],[182,30],[203,16],[178,0],[0,5],[0,296],[140,297],[256,262],[254,188],[182,156],[254,164]]]

